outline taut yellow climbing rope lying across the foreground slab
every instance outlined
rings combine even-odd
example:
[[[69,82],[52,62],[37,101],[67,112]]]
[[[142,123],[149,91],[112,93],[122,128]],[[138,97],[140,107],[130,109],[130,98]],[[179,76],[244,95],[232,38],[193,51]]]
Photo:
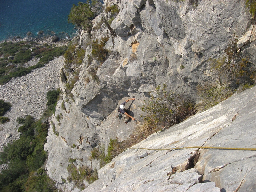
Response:
[[[202,146],[180,147],[180,148],[169,148],[169,149],[149,149],[149,148],[130,148],[130,149],[145,149],[145,150],[179,150],[179,149],[188,149],[188,148],[203,148],[203,149],[225,149],[225,150],[256,151],[256,148],[202,147]]]

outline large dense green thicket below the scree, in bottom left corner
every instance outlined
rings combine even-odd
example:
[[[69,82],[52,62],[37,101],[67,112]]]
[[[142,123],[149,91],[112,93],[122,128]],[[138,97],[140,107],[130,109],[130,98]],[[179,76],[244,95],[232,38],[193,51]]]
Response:
[[[48,135],[49,124],[41,120],[35,121],[32,116],[26,116],[24,119],[19,118],[19,121],[23,123],[24,131],[20,139],[13,141],[12,144],[8,143],[0,152],[0,163],[9,162],[8,169],[3,170],[0,174],[1,191],[23,191],[29,178],[29,171],[39,169],[47,158],[44,144]],[[52,181],[45,177],[44,179],[38,177],[41,187],[51,185]],[[37,188],[40,185],[37,185]]]

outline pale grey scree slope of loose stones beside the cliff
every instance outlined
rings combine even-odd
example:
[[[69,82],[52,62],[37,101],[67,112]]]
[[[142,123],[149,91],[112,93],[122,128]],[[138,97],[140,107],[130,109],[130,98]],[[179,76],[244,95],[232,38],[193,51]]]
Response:
[[[37,62],[38,59],[33,59],[26,66]],[[7,84],[0,85],[0,98],[12,104],[4,115],[10,122],[0,124],[0,151],[4,145],[19,138],[17,117],[41,117],[47,108],[46,93],[59,88],[59,70],[63,63],[63,56],[55,58],[43,68],[37,68],[26,76],[13,78]]]

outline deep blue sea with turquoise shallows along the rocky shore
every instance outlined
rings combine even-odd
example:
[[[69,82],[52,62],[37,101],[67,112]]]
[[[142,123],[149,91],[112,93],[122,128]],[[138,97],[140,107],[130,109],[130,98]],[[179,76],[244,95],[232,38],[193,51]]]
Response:
[[[81,0],[80,0],[81,1]],[[68,14],[79,0],[0,0],[0,41],[20,36],[28,31],[44,35],[54,31],[59,38],[74,36],[74,25],[68,23]]]

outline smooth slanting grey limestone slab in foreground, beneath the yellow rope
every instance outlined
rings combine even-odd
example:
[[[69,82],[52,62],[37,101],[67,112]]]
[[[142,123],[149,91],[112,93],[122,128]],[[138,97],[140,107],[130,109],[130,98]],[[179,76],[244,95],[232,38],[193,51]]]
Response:
[[[98,171],[86,191],[255,191],[256,87],[155,133]],[[236,118],[234,118],[234,116]],[[146,149],[138,149],[146,148]],[[154,150],[167,149],[167,150]],[[169,149],[169,150],[168,150]]]

